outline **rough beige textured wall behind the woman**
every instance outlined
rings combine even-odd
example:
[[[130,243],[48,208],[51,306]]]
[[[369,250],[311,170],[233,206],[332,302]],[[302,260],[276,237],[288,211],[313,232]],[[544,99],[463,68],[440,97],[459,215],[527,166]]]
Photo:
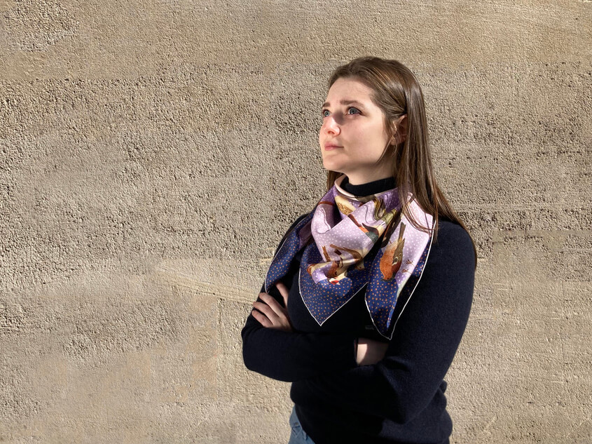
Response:
[[[0,0],[0,442],[287,441],[240,329],[371,54],[478,246],[451,442],[592,443],[591,48],[589,0]]]

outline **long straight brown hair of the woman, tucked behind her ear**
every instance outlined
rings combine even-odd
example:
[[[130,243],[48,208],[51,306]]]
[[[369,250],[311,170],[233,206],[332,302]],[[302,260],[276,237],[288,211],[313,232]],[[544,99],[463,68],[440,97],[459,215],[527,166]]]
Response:
[[[432,156],[429,152],[423,93],[413,72],[397,60],[361,57],[337,67],[329,78],[329,88],[340,78],[362,81],[373,90],[372,100],[385,114],[385,128],[391,140],[396,140],[397,130],[401,130],[396,126],[397,119],[405,114],[407,116],[404,142],[385,147],[378,162],[385,156],[392,159],[392,175],[397,181],[401,210],[409,222],[417,229],[430,231],[429,227],[423,227],[415,220],[409,211],[407,196],[411,193],[420,207],[434,217],[434,240],[438,233],[440,216],[457,222],[467,230],[436,183]],[[336,171],[327,171],[327,189],[333,187],[340,175],[341,173]],[[475,243],[472,238],[471,241],[476,264]]]

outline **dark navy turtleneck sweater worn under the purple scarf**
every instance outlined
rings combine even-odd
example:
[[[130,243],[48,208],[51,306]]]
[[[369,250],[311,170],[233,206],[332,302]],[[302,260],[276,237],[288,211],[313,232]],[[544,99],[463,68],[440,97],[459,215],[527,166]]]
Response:
[[[367,196],[391,189],[394,179],[363,185],[344,180],[342,187]],[[385,358],[376,365],[359,366],[354,355],[356,337],[387,342],[373,327],[364,292],[319,326],[298,290],[300,257],[294,257],[282,279],[295,331],[264,328],[249,315],[242,329],[247,368],[292,382],[296,414],[315,444],[448,443],[452,421],[443,377],[467,325],[474,287],[475,257],[467,231],[450,220],[439,221],[422,278]],[[275,287],[270,294],[283,305]]]

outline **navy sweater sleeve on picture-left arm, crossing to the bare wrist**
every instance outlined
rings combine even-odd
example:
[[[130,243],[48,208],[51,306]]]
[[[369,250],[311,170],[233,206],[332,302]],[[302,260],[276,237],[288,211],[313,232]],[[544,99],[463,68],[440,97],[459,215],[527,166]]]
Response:
[[[280,245],[302,217],[291,225]],[[261,292],[264,291],[263,285]],[[275,288],[270,291],[270,295],[284,305]],[[342,372],[357,365],[354,335],[284,332],[263,327],[252,314],[249,314],[241,335],[242,357],[246,367],[280,381],[294,382]]]

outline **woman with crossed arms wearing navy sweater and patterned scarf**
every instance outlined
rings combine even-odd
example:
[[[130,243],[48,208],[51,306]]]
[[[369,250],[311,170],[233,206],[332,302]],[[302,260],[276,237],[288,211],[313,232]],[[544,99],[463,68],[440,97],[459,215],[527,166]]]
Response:
[[[322,119],[329,191],[276,251],[245,365],[292,382],[291,444],[448,443],[443,377],[476,252],[436,184],[419,83],[396,60],[352,60]]]

